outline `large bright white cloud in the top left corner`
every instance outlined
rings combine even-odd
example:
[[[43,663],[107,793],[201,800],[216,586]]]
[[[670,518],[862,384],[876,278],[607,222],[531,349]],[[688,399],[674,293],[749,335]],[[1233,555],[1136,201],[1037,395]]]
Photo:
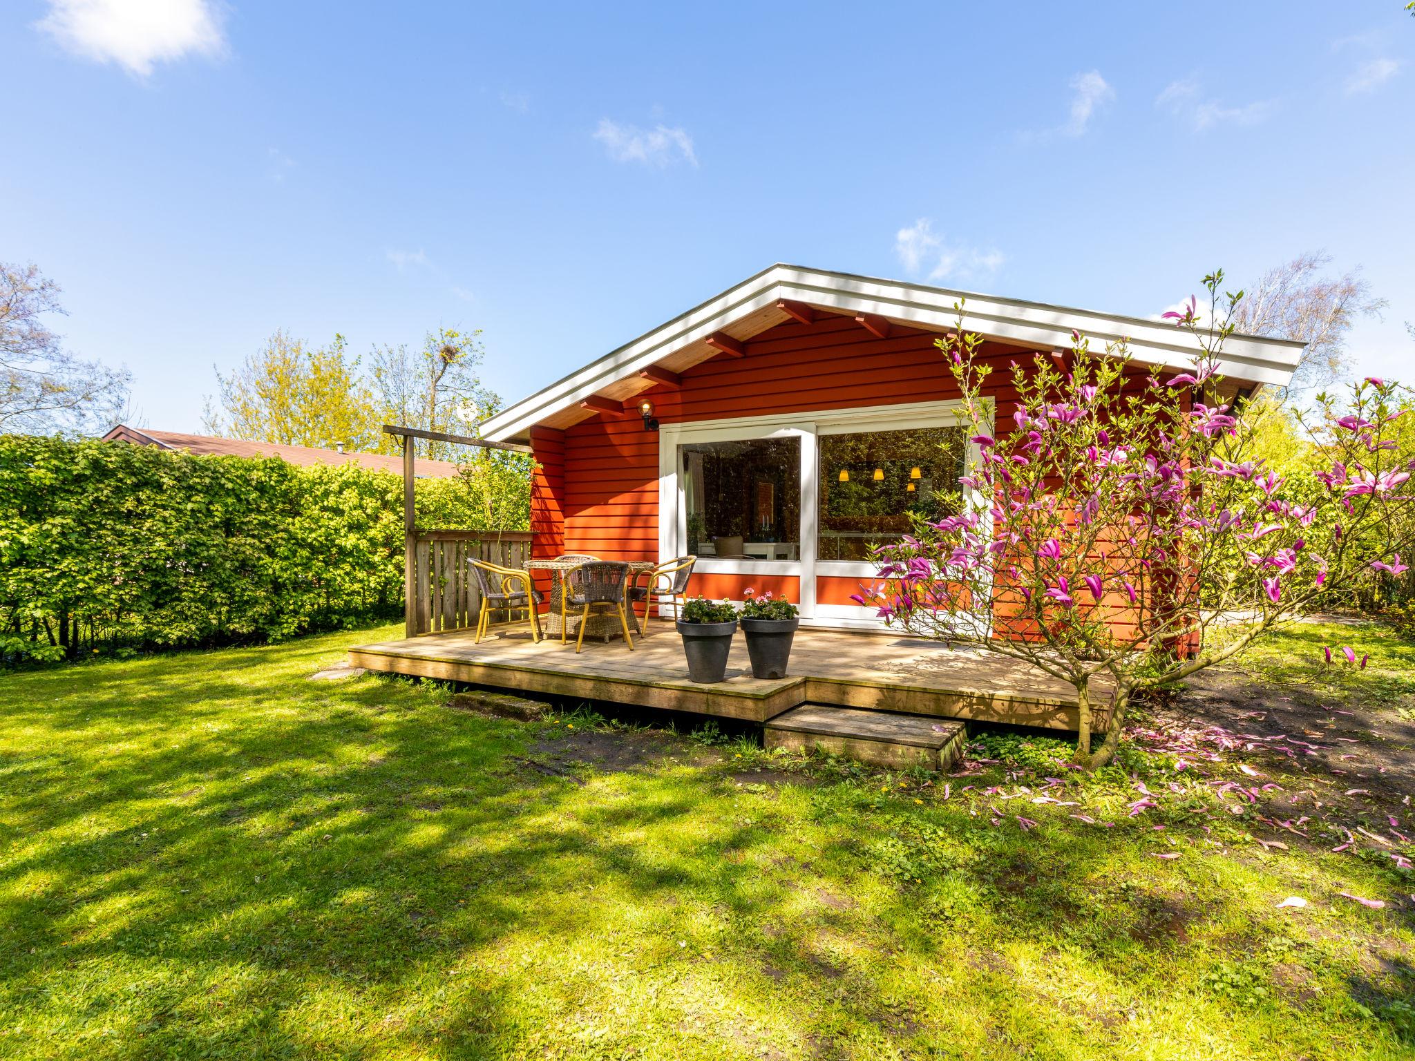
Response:
[[[226,47],[216,0],[50,0],[34,25],[75,55],[139,78],[157,62],[216,57]]]

